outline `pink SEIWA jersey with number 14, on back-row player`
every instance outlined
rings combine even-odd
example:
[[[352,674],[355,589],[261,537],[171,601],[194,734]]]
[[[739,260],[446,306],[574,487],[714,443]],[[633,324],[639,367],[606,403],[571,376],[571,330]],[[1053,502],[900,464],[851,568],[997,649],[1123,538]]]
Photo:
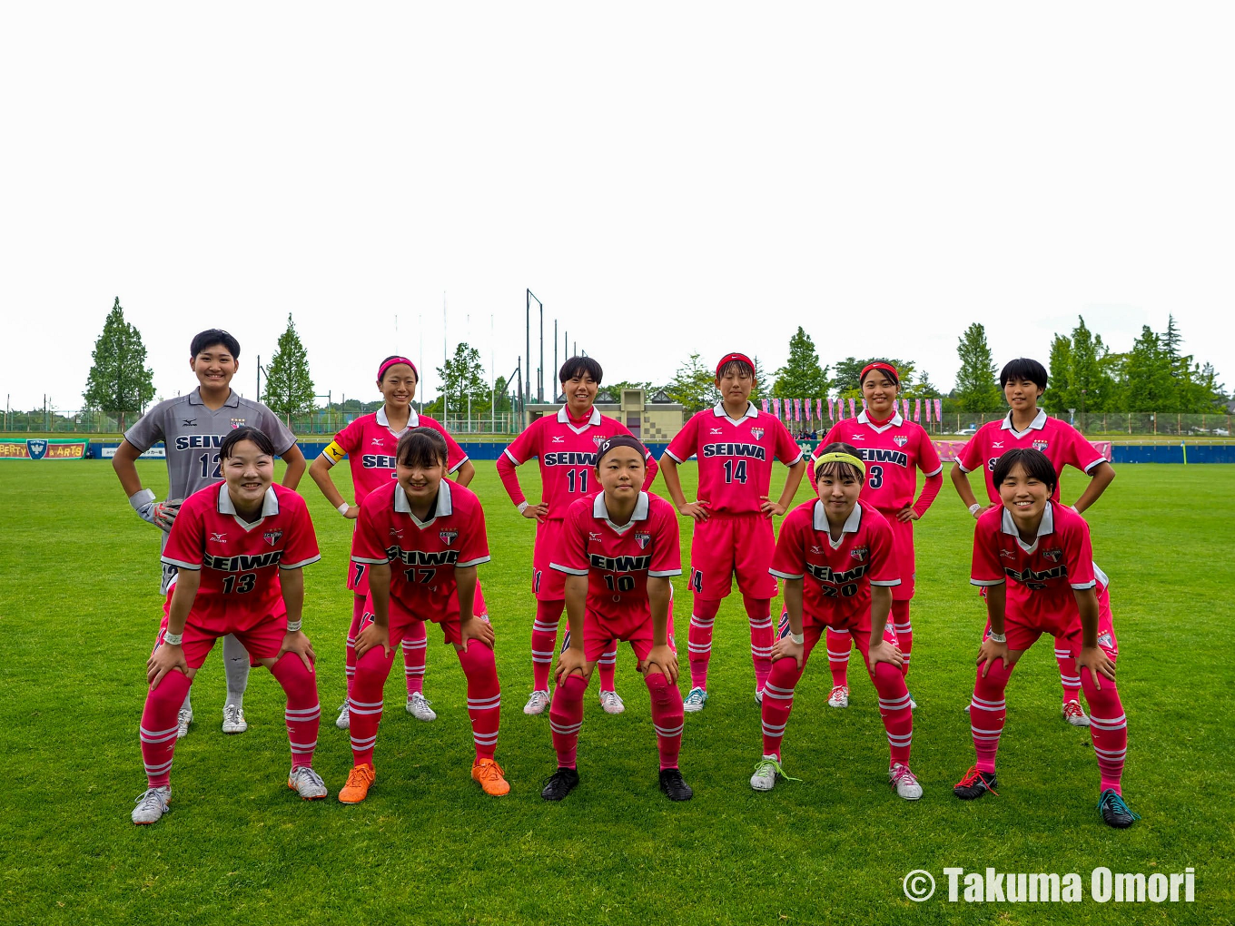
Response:
[[[695,412],[664,452],[677,463],[698,458],[698,499],[718,515],[758,514],[772,486],[773,458],[792,467],[803,456],[785,426],[755,403],[737,421],[722,404]]]

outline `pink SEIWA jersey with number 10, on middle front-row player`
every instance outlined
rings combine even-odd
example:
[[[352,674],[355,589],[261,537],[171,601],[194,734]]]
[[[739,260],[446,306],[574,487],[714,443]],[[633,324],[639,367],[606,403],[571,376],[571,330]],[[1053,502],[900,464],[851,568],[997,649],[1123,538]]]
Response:
[[[678,514],[664,499],[641,491],[630,521],[615,525],[603,491],[577,499],[567,510],[552,568],[588,577],[588,611],[598,617],[651,619],[648,578],[682,574]]]

